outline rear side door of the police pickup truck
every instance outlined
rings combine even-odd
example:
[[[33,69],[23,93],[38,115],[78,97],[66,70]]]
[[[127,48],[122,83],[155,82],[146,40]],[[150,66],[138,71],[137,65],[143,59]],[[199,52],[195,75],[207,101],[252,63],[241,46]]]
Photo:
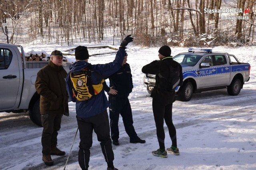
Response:
[[[217,69],[216,86],[228,85],[231,69],[227,63],[224,55],[214,55],[214,65]]]

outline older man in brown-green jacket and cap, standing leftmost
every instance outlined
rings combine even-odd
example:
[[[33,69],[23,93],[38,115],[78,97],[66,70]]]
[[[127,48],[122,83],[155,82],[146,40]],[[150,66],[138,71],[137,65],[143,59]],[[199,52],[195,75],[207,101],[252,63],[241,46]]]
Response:
[[[57,146],[57,135],[60,130],[62,114],[68,112],[68,94],[66,91],[66,70],[62,67],[63,55],[52,51],[50,62],[39,70],[36,77],[36,91],[40,94],[40,114],[43,126],[42,154],[46,165],[52,166],[51,155],[66,154]]]

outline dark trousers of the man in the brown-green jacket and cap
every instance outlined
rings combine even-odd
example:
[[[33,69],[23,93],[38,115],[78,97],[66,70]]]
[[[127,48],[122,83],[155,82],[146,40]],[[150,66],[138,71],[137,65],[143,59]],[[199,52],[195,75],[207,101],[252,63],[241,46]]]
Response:
[[[50,154],[51,147],[57,146],[57,136],[58,131],[60,130],[62,114],[49,114],[49,115],[41,115],[41,121],[43,126],[42,133],[42,153]]]

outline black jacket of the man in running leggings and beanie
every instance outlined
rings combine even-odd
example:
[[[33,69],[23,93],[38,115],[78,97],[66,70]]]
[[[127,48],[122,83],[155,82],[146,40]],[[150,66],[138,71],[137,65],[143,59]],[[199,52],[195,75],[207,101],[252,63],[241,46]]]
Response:
[[[145,66],[142,67],[142,72],[145,74],[155,74],[156,75],[156,84],[152,90],[150,97],[158,100],[162,104],[170,104],[175,101],[175,91],[174,90],[166,90],[164,88],[166,86],[166,80],[159,77],[159,73],[165,77],[170,78],[170,65],[175,68],[178,72],[178,76],[180,77],[180,84],[182,85],[183,76],[182,76],[182,66],[172,60],[172,57],[165,57],[161,61],[155,60]]]

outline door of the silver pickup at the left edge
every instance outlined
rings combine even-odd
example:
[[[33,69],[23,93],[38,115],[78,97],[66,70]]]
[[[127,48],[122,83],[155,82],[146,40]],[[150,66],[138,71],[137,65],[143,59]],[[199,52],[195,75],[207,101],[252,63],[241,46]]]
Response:
[[[15,106],[19,88],[20,68],[17,54],[12,48],[0,48],[0,109]]]

